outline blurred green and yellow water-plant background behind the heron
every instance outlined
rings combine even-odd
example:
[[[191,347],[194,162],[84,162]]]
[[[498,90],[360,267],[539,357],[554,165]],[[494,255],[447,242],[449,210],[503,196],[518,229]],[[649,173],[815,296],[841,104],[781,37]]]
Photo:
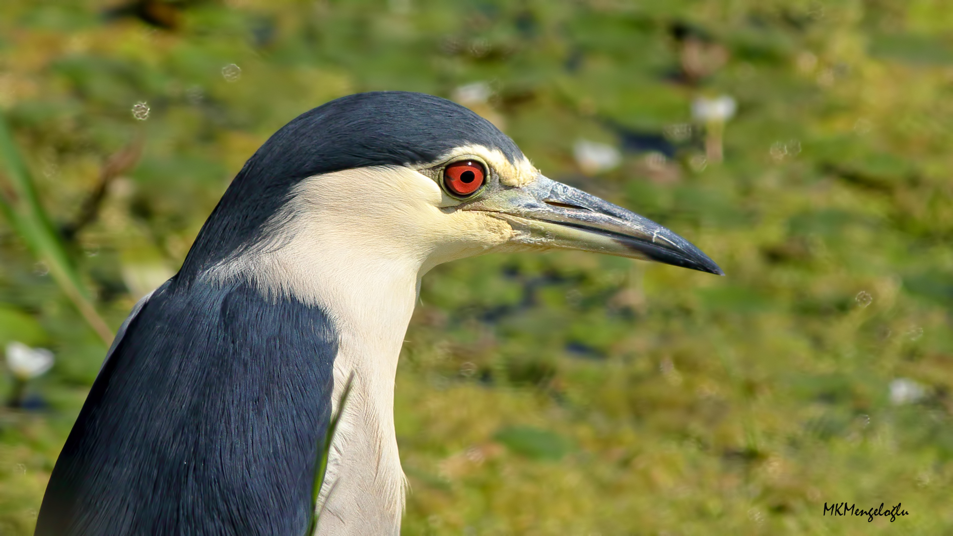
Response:
[[[172,276],[270,134],[368,90],[456,99],[727,273],[437,267],[397,375],[404,534],[953,532],[950,3],[4,0],[0,344],[56,361],[3,381],[0,534],[32,533],[96,315]]]

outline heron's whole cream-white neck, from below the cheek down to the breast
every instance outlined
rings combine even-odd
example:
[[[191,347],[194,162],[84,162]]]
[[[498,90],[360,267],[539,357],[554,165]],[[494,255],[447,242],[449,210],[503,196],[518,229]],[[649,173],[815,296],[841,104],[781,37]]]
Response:
[[[394,383],[421,263],[335,243],[314,247],[312,240],[308,246],[293,242],[240,264],[263,294],[315,304],[335,328],[332,404],[341,421],[319,495],[318,534],[398,534],[404,475],[394,429]],[[352,373],[352,392],[342,408]]]

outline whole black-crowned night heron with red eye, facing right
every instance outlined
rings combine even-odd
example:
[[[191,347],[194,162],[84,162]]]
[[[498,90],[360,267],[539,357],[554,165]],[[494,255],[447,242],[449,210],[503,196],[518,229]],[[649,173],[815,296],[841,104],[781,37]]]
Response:
[[[541,175],[448,100],[361,93],[298,116],[123,324],[36,533],[301,536],[317,507],[319,534],[397,534],[395,369],[420,278],[552,248],[721,273],[668,229]]]

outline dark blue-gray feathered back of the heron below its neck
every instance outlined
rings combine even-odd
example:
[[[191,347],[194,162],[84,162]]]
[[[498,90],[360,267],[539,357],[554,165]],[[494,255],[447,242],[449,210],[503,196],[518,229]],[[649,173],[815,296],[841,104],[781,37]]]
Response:
[[[36,534],[303,534],[336,345],[315,307],[173,278],[93,383]]]

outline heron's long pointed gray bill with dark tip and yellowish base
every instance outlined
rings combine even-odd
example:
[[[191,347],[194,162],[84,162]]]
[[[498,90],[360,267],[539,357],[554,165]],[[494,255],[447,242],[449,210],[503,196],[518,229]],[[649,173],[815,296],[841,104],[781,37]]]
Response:
[[[724,275],[699,248],[658,223],[545,176],[498,190],[465,210],[507,220],[518,244],[643,258]]]

